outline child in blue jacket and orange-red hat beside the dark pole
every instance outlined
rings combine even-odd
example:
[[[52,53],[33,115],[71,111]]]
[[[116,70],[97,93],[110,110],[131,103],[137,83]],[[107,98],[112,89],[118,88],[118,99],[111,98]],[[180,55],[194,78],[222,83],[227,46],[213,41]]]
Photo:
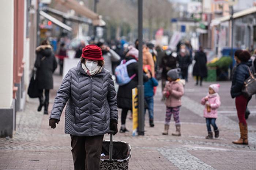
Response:
[[[158,86],[157,80],[152,77],[151,67],[149,65],[144,66],[144,72],[150,79],[144,82],[144,97],[147,103],[149,125],[154,127],[154,87]],[[145,114],[146,110],[145,108]]]

